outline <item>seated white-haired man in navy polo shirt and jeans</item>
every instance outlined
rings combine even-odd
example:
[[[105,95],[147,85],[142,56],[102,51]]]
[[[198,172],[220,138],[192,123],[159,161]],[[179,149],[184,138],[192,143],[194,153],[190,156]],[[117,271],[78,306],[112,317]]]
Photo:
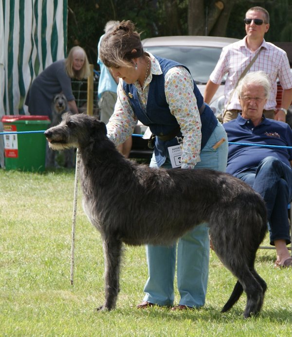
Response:
[[[288,124],[266,119],[270,83],[263,71],[250,72],[237,86],[242,113],[223,124],[229,142],[292,146]],[[266,202],[270,244],[276,266],[291,267],[287,206],[292,200],[292,149],[230,144],[226,172],[247,182]]]

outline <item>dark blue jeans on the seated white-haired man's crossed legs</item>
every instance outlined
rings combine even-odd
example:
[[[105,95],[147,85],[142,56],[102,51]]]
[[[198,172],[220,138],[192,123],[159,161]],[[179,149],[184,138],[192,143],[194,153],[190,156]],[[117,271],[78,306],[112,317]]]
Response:
[[[290,244],[287,207],[292,200],[292,168],[275,157],[267,157],[256,168],[239,173],[237,178],[248,183],[266,202],[270,244],[286,240]]]

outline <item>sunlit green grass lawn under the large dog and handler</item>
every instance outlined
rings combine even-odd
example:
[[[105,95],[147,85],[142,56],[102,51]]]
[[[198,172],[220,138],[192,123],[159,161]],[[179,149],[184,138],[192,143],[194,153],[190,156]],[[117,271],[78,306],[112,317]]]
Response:
[[[292,269],[274,268],[275,251],[267,249],[256,259],[268,284],[258,318],[242,318],[245,296],[220,313],[236,280],[213,251],[201,310],[137,310],[147,279],[144,247],[125,251],[117,308],[94,312],[104,299],[102,245],[82,210],[79,190],[71,285],[73,191],[73,170],[0,169],[0,336],[291,336]]]

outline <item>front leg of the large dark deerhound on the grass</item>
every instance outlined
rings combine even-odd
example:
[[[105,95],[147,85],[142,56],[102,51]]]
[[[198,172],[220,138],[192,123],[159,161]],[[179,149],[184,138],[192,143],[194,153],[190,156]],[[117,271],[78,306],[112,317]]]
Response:
[[[115,237],[103,237],[105,257],[105,302],[98,310],[111,310],[115,308],[119,292],[122,244],[122,241]]]

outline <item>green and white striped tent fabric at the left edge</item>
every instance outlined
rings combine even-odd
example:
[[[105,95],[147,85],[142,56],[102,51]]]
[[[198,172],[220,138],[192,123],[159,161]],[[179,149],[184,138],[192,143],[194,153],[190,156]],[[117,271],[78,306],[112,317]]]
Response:
[[[67,8],[67,0],[0,0],[0,116],[27,113],[32,80],[66,57]]]

